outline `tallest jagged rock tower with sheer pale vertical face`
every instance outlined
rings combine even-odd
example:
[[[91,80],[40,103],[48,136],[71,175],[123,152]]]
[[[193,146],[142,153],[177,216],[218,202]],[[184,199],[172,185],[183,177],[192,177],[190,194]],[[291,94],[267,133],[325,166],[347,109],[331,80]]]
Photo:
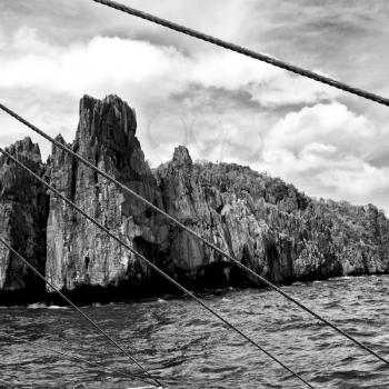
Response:
[[[103,101],[84,97],[80,103],[80,122],[70,146],[120,182],[159,207],[156,179],[144,162],[136,138],[136,116],[117,97]],[[63,141],[59,138],[60,141]],[[152,259],[161,256],[168,230],[139,200],[124,196],[84,164],[54,148],[50,160],[51,183],[88,215],[120,239]],[[60,289],[144,283],[149,269],[98,227],[78,215],[54,196],[50,198],[47,233],[47,276]]]

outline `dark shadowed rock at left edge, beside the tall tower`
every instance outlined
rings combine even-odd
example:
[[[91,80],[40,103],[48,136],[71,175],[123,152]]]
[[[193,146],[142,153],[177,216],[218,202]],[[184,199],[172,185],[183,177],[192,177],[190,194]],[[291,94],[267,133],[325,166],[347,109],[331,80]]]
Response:
[[[42,177],[44,166],[30,138],[7,149]],[[44,273],[48,198],[34,178],[0,156],[0,236]],[[33,272],[0,243],[0,301],[33,300],[44,292]]]

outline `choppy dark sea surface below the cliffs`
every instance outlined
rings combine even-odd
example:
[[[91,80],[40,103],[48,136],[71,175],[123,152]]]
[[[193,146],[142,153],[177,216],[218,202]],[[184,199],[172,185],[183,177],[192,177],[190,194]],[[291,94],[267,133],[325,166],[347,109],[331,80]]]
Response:
[[[389,358],[389,276],[283,288]],[[205,301],[316,388],[389,388],[389,368],[268,290],[229,290]],[[86,307],[169,388],[302,388],[303,385],[187,299]],[[0,336],[0,388],[141,386],[137,372],[70,308],[2,308],[0,331],[101,362],[89,367]]]

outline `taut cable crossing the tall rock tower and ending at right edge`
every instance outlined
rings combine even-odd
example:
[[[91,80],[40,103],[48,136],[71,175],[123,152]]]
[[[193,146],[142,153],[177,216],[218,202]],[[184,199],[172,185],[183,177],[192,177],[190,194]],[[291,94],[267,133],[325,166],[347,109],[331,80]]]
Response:
[[[26,119],[21,118],[18,113],[13,112],[11,109],[7,108],[6,106],[3,106],[2,103],[0,103],[0,109],[2,109],[4,112],[7,112],[8,114],[10,114],[11,117],[13,117],[14,119],[17,119],[18,121],[20,121],[21,123],[23,123],[24,126],[29,127],[32,131],[39,133],[41,137],[43,137],[44,139],[49,140],[51,143],[53,143],[54,146],[57,146],[58,148],[62,149],[63,151],[68,152],[69,154],[71,154],[72,157],[74,157],[77,160],[79,160],[80,162],[82,162],[84,166],[87,166],[88,168],[92,169],[93,171],[96,171],[97,173],[99,173],[100,176],[104,177],[107,180],[109,180],[110,182],[114,183],[118,188],[122,189],[124,192],[133,196],[136,199],[142,201],[143,203],[146,203],[148,207],[150,207],[151,209],[153,209],[154,211],[157,211],[158,213],[162,215],[166,219],[170,220],[171,222],[173,222],[174,225],[177,225],[179,228],[181,228],[183,231],[190,233],[192,237],[194,237],[196,239],[202,241],[206,246],[210,247],[212,250],[215,250],[216,252],[220,253],[222,257],[227,258],[230,262],[232,262],[235,266],[237,266],[238,268],[240,268],[241,270],[246,271],[247,273],[249,273],[250,276],[252,276],[255,279],[259,280],[260,282],[262,282],[263,285],[266,285],[267,287],[269,287],[270,289],[277,291],[278,293],[280,293],[281,296],[283,296],[286,299],[288,299],[289,301],[293,302],[296,306],[298,306],[299,308],[301,308],[302,310],[305,310],[306,312],[308,312],[309,315],[313,316],[316,319],[320,320],[321,322],[323,322],[325,325],[329,326],[330,328],[332,328],[335,331],[337,331],[338,333],[340,333],[341,336],[346,337],[347,339],[349,339],[350,341],[352,341],[355,345],[357,345],[358,347],[362,348],[363,350],[366,350],[367,352],[369,352],[370,355],[372,355],[373,357],[378,358],[379,360],[381,360],[382,362],[389,365],[389,360],[385,359],[383,357],[381,357],[380,355],[378,355],[376,351],[373,351],[372,349],[370,349],[368,346],[363,345],[362,342],[360,342],[359,340],[357,340],[356,338],[353,338],[351,335],[347,333],[346,331],[343,331],[341,328],[339,328],[338,326],[336,326],[335,323],[332,323],[331,321],[327,320],[326,318],[323,318],[322,316],[320,316],[319,313],[316,313],[313,310],[311,310],[310,308],[306,307],[302,302],[300,302],[299,300],[297,300],[296,298],[293,298],[292,296],[286,293],[282,289],[278,288],[276,285],[273,285],[272,282],[268,281],[266,278],[263,278],[262,276],[256,273],[253,270],[251,270],[250,268],[248,268],[247,266],[240,263],[236,258],[233,258],[232,256],[230,256],[228,252],[225,252],[222,249],[220,249],[219,247],[217,247],[216,245],[213,245],[212,242],[208,241],[206,238],[203,238],[201,235],[199,235],[198,232],[191,230],[190,228],[188,228],[187,226],[184,226],[182,222],[180,222],[179,220],[177,220],[174,217],[170,216],[169,213],[164,212],[162,209],[158,208],[157,206],[154,206],[152,202],[148,201],[147,199],[144,199],[143,197],[141,197],[140,194],[138,194],[136,191],[133,191],[132,189],[126,187],[123,183],[119,182],[118,180],[116,180],[113,177],[109,176],[108,173],[106,173],[103,170],[100,170],[98,167],[96,167],[94,164],[92,164],[91,162],[89,162],[87,159],[84,159],[83,157],[79,156],[78,153],[76,153],[73,150],[71,150],[70,148],[68,148],[67,146],[62,144],[61,142],[57,141],[56,139],[51,138],[50,136],[48,136],[46,132],[43,132],[42,130],[40,130],[39,128],[37,128],[36,126],[31,124],[29,121],[27,121]]]

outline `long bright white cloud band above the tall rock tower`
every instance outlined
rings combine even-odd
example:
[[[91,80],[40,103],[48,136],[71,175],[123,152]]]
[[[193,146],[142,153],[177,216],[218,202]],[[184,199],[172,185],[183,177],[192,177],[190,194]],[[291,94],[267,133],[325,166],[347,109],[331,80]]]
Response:
[[[133,39],[96,37],[86,43],[60,47],[44,42],[34,30],[14,33],[2,59],[0,88],[39,88],[79,96],[118,90],[164,98],[200,83],[228,90],[247,88],[261,104],[316,102],[333,91],[318,83],[228,51],[183,54],[172,47]],[[29,69],[29,71],[26,71]],[[282,88],[280,87],[282,86]],[[301,92],[296,93],[296,88]],[[277,102],[279,101],[279,102]]]

